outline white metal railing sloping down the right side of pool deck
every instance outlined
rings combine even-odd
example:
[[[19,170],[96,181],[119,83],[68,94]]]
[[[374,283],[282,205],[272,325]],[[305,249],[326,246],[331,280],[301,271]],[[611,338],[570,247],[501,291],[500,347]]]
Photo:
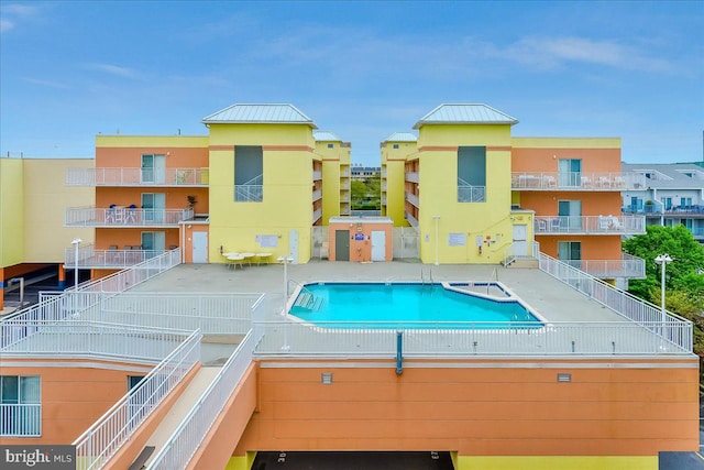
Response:
[[[692,351],[692,323],[656,305],[570,266],[562,261],[540,253],[540,270],[605,305],[617,314],[644,328],[660,328],[659,336],[679,349]]]

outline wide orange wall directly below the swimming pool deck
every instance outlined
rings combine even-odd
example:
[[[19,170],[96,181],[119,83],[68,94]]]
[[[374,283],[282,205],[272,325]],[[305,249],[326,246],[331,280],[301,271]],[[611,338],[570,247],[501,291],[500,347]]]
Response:
[[[282,362],[267,361],[258,371],[258,413],[235,456],[282,449],[654,456],[698,449],[696,358],[476,360],[448,368],[407,360],[402,375],[393,361],[381,368],[361,360],[344,367]],[[322,372],[332,373],[332,384],[321,383]],[[558,383],[558,373],[571,373],[572,382]]]

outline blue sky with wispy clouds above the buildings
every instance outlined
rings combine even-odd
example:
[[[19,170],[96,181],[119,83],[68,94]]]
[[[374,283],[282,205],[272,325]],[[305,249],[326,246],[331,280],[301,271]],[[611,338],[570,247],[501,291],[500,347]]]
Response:
[[[290,102],[378,164],[442,102],[514,135],[620,136],[623,160],[703,159],[704,2],[10,1],[0,154],[91,157],[95,135],[206,134]]]

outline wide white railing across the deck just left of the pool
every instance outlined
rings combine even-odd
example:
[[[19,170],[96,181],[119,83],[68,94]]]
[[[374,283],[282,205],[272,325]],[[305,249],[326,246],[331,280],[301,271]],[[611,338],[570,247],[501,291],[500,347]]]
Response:
[[[200,329],[204,335],[244,335],[252,327],[252,305],[263,294],[124,292],[106,296],[81,319],[144,328]]]

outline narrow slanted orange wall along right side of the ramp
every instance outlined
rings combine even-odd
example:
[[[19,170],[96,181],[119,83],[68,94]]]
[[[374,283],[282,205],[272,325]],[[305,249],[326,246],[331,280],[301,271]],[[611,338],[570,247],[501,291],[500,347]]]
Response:
[[[189,470],[223,469],[256,407],[256,364],[250,364],[222,414],[194,456]]]

